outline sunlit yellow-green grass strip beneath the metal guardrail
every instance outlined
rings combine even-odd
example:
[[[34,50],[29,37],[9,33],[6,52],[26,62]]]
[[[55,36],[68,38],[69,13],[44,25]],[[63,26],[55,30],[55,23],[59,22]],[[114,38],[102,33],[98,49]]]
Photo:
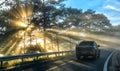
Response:
[[[38,63],[44,63],[47,61],[55,61],[57,59],[63,59],[66,57],[70,57],[73,56],[73,53],[69,53],[69,54],[57,54],[57,56],[55,55],[51,55],[51,56],[40,56],[38,58],[33,57],[33,58],[25,58],[25,59],[16,59],[16,60],[11,60],[11,61],[4,61],[3,63],[3,67],[1,67],[0,69],[11,69],[11,68],[15,68],[17,66],[25,66],[25,65],[29,65],[29,64],[34,64],[36,62]]]

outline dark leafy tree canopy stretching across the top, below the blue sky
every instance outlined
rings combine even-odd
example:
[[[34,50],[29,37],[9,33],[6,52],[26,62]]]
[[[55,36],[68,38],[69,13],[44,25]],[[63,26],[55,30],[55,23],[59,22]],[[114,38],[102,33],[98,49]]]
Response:
[[[9,1],[9,2],[8,2]],[[24,7],[27,10],[32,9],[32,19],[39,28],[72,29],[77,28],[81,31],[107,31],[112,25],[104,14],[98,14],[88,9],[76,9],[65,7],[65,0],[5,0],[7,9],[0,10],[0,27],[6,26],[9,29],[18,29],[13,26],[10,20],[20,20],[22,16],[18,11]],[[3,6],[3,3],[0,4]],[[29,15],[28,15],[29,16]],[[18,19],[19,18],[19,19]],[[1,26],[2,25],[2,26]]]

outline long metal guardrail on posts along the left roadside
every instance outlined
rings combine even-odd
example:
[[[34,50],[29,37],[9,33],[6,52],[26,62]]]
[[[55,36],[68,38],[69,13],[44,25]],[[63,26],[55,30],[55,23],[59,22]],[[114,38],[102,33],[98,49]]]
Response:
[[[16,60],[16,59],[20,59],[21,62],[24,62],[25,58],[34,58],[35,60],[38,60],[39,57],[41,56],[47,56],[47,58],[49,58],[49,55],[55,55],[55,57],[59,56],[60,54],[64,53],[73,53],[74,51],[60,51],[60,52],[41,52],[41,53],[34,53],[34,54],[24,54],[24,55],[15,55],[15,56],[5,56],[5,57],[0,57],[0,68],[3,67],[3,62],[4,61],[11,61],[11,60]]]

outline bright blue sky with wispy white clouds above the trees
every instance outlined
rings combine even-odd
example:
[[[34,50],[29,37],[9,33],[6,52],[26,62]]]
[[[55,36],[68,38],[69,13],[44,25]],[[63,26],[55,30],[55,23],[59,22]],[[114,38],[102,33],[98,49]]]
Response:
[[[120,0],[67,0],[66,7],[86,11],[92,9],[104,14],[113,25],[120,25]]]

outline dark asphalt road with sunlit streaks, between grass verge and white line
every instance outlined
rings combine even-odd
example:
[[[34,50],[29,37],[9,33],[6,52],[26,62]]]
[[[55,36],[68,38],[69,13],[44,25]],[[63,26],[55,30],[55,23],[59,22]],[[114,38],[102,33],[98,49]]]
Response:
[[[103,71],[104,62],[111,52],[111,49],[102,49],[98,59],[77,60],[75,56],[72,56],[54,61],[36,62],[8,71]]]

